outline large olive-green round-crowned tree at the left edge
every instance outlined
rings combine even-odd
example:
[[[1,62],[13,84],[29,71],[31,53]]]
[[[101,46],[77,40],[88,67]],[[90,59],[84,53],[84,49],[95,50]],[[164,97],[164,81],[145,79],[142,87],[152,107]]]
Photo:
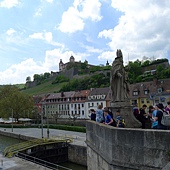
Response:
[[[28,94],[24,94],[15,86],[4,86],[0,92],[0,116],[13,117],[18,121],[22,117],[25,110],[32,110],[34,106],[33,98]]]

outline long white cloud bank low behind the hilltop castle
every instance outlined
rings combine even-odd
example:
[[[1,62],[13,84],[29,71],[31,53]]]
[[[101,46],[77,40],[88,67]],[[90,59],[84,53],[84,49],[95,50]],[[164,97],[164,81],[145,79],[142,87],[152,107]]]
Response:
[[[59,71],[60,59],[67,63],[71,55],[74,56],[76,61],[83,60],[85,57],[84,54],[75,54],[73,51],[63,51],[62,49],[49,50],[46,51],[45,60],[42,63],[36,63],[32,58],[29,58],[0,72],[1,85],[25,83],[28,76],[33,80],[34,74]]]

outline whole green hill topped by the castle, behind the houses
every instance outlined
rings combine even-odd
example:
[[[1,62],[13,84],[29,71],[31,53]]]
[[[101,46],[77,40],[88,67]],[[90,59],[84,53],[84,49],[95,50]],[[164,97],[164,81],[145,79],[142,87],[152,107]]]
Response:
[[[154,61],[139,60],[129,62],[127,66],[130,83],[150,81],[154,78],[170,78],[168,59]],[[87,60],[75,61],[73,56],[67,63],[59,62],[59,71],[35,74],[34,80],[27,79],[24,92],[30,94],[51,93],[59,91],[83,90],[110,86],[111,65],[92,65]],[[164,71],[163,71],[164,70]]]

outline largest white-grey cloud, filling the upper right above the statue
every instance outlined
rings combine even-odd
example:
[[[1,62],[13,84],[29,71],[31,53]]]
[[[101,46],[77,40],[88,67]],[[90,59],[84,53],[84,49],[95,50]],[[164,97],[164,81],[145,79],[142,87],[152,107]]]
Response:
[[[165,58],[170,49],[170,1],[112,0],[112,7],[121,11],[119,24],[103,30],[98,37],[108,38],[111,50],[122,49],[126,58],[142,56]]]

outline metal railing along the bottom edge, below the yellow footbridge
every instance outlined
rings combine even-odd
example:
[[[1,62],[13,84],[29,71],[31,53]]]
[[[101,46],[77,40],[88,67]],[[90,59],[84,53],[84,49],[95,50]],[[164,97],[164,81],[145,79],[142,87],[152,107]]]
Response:
[[[39,158],[30,156],[30,155],[27,155],[27,154],[24,154],[24,153],[21,153],[21,152],[18,152],[17,154],[15,154],[15,156],[22,158],[24,160],[33,162],[35,164],[44,166],[46,168],[53,169],[53,170],[72,170],[70,168],[67,168],[67,167],[64,167],[64,166],[61,166],[61,165],[58,165],[58,164],[54,164],[54,163],[51,163],[51,162],[45,161],[43,159],[39,159]]]

